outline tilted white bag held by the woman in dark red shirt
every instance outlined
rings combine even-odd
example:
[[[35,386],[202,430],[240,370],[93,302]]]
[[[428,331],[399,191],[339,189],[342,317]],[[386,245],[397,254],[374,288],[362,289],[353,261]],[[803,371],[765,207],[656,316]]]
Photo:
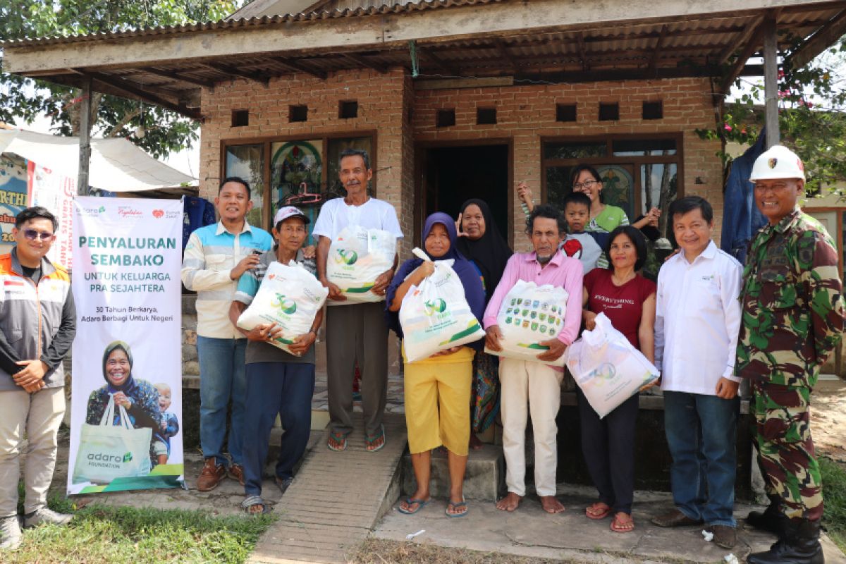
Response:
[[[605,417],[640,388],[656,381],[658,370],[605,314],[596,315],[596,328],[567,348],[564,359],[591,407]]]

